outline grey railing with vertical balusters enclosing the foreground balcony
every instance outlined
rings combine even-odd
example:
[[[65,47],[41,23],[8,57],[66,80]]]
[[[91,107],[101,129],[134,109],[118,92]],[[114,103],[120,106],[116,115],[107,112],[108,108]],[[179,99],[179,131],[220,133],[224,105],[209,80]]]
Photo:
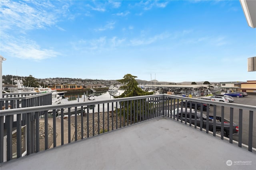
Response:
[[[247,145],[248,150],[252,151],[253,114],[256,112],[256,106],[159,94],[104,101],[1,110],[1,162],[12,160],[14,157],[20,158],[23,156],[25,144],[25,154],[29,155],[34,152],[39,152],[40,150],[47,150],[50,146],[58,147],[59,145],[65,145],[84,138],[94,137],[101,133],[156,117],[169,117],[184,124],[189,123],[189,125],[192,126],[193,119],[191,116],[189,118],[186,117],[185,121],[183,121],[182,116],[179,117],[172,112],[172,110],[177,108],[184,110],[191,108],[191,103],[190,107],[187,105],[188,100],[189,102],[196,102],[200,106],[202,106],[202,104],[207,104],[206,113],[204,112],[207,117],[210,115],[210,105],[212,105],[211,110],[213,108],[213,119],[215,119],[217,115],[221,115],[222,123],[220,128],[220,138],[222,140],[226,139],[224,138],[224,117],[228,116],[230,124],[232,125],[236,117],[234,117],[234,112],[238,109],[238,120],[236,120],[239,125],[238,147],[242,147],[242,145],[245,144]],[[180,101],[184,101],[186,105],[180,105]],[[218,111],[219,108],[220,111]],[[229,114],[225,114],[226,110],[229,110]],[[197,112],[197,105],[195,105],[195,111]],[[200,114],[202,115],[202,113],[203,111],[201,109]],[[242,128],[244,125],[243,115],[245,113],[246,115],[247,113],[249,115],[248,119],[246,119],[248,120],[248,122],[246,122],[248,124],[248,129]],[[14,117],[16,117],[16,126],[13,126]],[[26,120],[26,125],[24,126],[21,124],[22,117]],[[194,124],[198,125],[195,120],[196,118],[194,119]],[[216,136],[216,121],[214,121],[215,125],[213,124],[213,129],[209,129],[209,121],[210,120],[206,120],[206,126],[203,127],[203,119],[200,119],[199,125],[194,126],[194,128],[198,128],[204,133],[211,132],[213,136]],[[49,126],[48,124],[51,125]],[[22,128],[24,127],[26,133],[22,133]],[[60,133],[56,132],[58,130],[60,130]],[[13,135],[14,131],[15,135]],[[243,131],[248,131],[247,143],[242,143]],[[58,141],[58,138],[60,141]],[[229,142],[233,143],[231,131],[229,134]],[[44,143],[43,148],[40,147],[42,146],[42,143]],[[4,159],[4,157],[6,159]]]

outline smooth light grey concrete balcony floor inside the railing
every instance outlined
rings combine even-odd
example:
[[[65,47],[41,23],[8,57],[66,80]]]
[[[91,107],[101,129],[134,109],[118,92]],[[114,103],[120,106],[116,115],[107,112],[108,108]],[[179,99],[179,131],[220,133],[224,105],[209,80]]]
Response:
[[[228,166],[228,160],[240,162]],[[254,152],[176,120],[160,117],[4,162],[0,169],[228,170],[255,167]]]

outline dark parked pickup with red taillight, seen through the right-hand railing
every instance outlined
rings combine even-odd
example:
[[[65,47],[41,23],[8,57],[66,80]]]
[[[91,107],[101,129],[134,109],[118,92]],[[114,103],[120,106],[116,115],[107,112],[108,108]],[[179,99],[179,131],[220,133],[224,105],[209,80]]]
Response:
[[[195,110],[191,109],[191,123],[194,125],[195,124]],[[182,121],[185,121],[186,117],[187,117],[187,122],[190,121],[190,109],[181,109],[181,108],[176,108],[175,110],[172,110],[172,115],[174,114],[175,117],[178,116],[178,119],[182,119]],[[200,126],[200,112],[197,112],[196,114],[196,125]],[[202,118],[203,118],[203,125],[202,127],[204,129],[206,129],[206,120],[207,117],[206,115],[203,113],[202,114]],[[214,120],[213,120],[213,116],[209,115],[209,119],[208,119],[208,123],[209,123],[209,131],[213,131],[213,124],[214,124]],[[228,119],[224,118],[224,136],[228,137],[229,136],[229,132],[230,132],[230,121]],[[216,133],[217,134],[221,134],[221,117],[220,116],[216,116]],[[233,123],[232,125],[232,134],[237,134],[238,133],[238,125],[236,123]]]

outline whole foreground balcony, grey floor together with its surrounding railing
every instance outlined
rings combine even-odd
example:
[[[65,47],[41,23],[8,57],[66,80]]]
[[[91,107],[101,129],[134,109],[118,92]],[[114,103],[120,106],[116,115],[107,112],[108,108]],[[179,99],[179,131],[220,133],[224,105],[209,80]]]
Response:
[[[220,133],[216,121],[211,129],[210,119],[170,112],[190,109],[188,100],[207,104],[199,115],[221,117]],[[1,169],[253,169],[255,112],[166,94],[1,110]],[[225,137],[224,117],[238,134]]]

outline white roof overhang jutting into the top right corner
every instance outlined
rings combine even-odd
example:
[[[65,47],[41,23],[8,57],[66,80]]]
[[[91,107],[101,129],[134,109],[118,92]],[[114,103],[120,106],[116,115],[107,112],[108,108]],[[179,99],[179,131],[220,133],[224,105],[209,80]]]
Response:
[[[256,27],[256,0],[239,0],[250,27]]]

